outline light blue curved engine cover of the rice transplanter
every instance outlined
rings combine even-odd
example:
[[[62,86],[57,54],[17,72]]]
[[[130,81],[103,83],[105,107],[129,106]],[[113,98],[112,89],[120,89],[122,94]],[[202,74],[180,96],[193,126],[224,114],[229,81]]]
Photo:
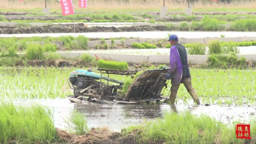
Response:
[[[97,74],[95,72],[90,72],[90,71],[87,71],[87,70],[74,70],[73,72],[71,72],[69,74],[69,76],[76,76],[76,75],[91,76],[91,77],[94,77],[96,80],[100,80],[100,74]],[[118,83],[118,84],[124,84],[124,82],[122,82],[122,81],[114,80],[112,78],[107,78],[105,76],[102,76],[102,79],[103,80],[108,80],[110,82],[115,82],[115,83]]]

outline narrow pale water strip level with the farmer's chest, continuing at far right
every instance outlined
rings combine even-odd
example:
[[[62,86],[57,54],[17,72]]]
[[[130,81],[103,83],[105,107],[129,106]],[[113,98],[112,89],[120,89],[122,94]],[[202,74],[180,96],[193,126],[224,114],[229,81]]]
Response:
[[[256,54],[256,46],[238,46],[239,54]],[[135,54],[135,55],[169,55],[170,48],[157,49],[122,49],[122,50],[80,50],[80,51],[59,51],[62,52],[88,52],[88,53],[106,53],[106,54]]]

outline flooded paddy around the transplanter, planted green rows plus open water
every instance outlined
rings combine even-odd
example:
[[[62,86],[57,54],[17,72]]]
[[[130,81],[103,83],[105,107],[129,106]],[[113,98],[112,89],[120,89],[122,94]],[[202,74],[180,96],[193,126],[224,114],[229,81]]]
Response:
[[[241,123],[255,118],[256,84],[255,71],[251,70],[191,70],[192,85],[202,105],[195,106],[186,88],[181,85],[176,106],[169,104],[121,105],[71,103],[67,96],[72,94],[66,80],[71,69],[0,69],[0,98],[11,100],[16,105],[40,104],[54,112],[54,123],[65,128],[63,118],[78,110],[88,119],[88,126],[109,126],[113,130],[145,120],[164,116],[165,112],[189,110],[194,115],[208,114],[224,123],[239,120]],[[86,69],[86,68],[84,68]],[[126,80],[125,76],[113,76],[116,80]],[[168,83],[168,86],[171,86]],[[168,95],[167,93],[164,93]],[[146,118],[146,119],[144,119]]]

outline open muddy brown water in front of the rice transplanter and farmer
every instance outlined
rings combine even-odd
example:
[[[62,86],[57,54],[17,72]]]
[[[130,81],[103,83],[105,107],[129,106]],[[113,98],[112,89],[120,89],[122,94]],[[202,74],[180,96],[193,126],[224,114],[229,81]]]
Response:
[[[18,100],[14,104],[30,106],[31,104],[48,106],[54,112],[54,123],[56,127],[65,129],[66,123],[63,118],[68,118],[74,110],[78,110],[87,117],[88,127],[109,126],[112,130],[120,131],[121,128],[142,124],[144,117],[147,120],[161,118],[166,112],[182,113],[190,111],[194,115],[208,114],[216,120],[226,124],[238,120],[240,123],[248,123],[250,118],[255,118],[255,107],[252,106],[185,106],[178,102],[176,106],[169,104],[161,105],[119,105],[119,104],[76,104],[68,99],[55,100]],[[193,104],[190,101],[190,104]],[[240,119],[240,120],[239,120]]]

